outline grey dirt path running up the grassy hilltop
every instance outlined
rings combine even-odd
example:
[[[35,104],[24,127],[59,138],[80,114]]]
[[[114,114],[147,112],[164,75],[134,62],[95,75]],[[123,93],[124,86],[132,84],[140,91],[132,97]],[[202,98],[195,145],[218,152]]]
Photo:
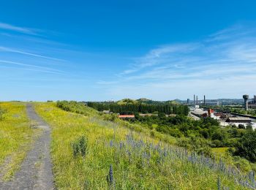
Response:
[[[32,104],[26,105],[28,116],[37,121],[43,130],[34,147],[27,154],[13,180],[0,183],[0,189],[53,189],[53,172],[50,161],[50,126],[34,112]]]

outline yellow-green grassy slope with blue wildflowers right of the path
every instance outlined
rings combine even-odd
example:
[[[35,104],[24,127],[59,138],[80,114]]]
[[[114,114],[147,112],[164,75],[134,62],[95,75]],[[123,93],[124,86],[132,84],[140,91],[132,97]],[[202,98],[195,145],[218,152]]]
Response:
[[[116,189],[217,189],[218,177],[222,186],[244,189],[217,170],[176,156],[162,158],[158,151],[170,145],[161,142],[154,151],[150,147],[157,147],[159,138],[145,132],[131,132],[98,115],[69,113],[53,103],[36,104],[36,111],[52,127],[51,155],[58,189],[113,189],[107,181],[110,165]],[[72,143],[81,136],[88,138],[88,151],[84,157],[74,157]],[[120,148],[120,142],[125,148]],[[151,155],[148,161],[145,153]]]

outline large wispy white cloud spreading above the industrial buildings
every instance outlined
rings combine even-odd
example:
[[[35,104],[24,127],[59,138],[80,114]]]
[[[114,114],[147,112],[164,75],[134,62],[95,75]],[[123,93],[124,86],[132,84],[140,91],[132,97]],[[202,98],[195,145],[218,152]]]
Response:
[[[139,91],[138,96],[151,98],[153,94],[158,98],[166,98],[166,94],[186,98],[186,90],[187,94],[211,91],[216,96],[232,96],[238,88],[249,93],[256,85],[255,34],[256,26],[238,25],[198,42],[160,46],[136,58],[117,75],[115,83],[101,83],[116,96],[124,92],[134,96]]]

